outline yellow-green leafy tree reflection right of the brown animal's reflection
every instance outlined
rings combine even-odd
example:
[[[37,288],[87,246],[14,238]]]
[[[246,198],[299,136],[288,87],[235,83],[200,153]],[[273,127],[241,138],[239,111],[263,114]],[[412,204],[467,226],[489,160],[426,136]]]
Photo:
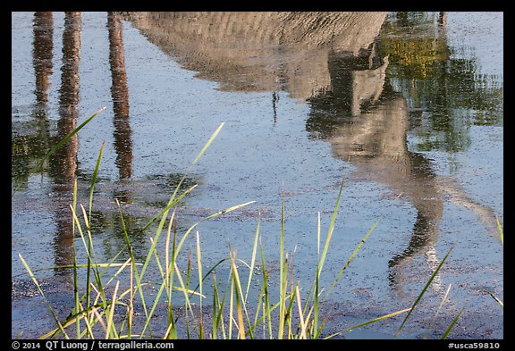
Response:
[[[384,22],[381,52],[393,63],[388,78],[417,110],[420,151],[458,152],[470,145],[471,125],[502,122],[498,77],[480,75],[467,47],[449,46],[443,13],[397,13]]]

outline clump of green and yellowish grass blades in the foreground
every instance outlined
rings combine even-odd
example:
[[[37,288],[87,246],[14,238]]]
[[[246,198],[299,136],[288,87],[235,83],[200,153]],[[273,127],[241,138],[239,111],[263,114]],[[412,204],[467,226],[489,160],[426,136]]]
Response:
[[[92,116],[94,117],[94,116]],[[91,118],[92,118],[91,117]],[[90,118],[90,119],[91,119]],[[90,121],[90,119],[88,121]],[[194,161],[190,165],[198,163],[198,160],[207,148],[214,141],[216,135],[222,130],[222,123],[208,138],[205,146],[202,147]],[[80,126],[82,128],[83,125]],[[76,131],[73,132],[73,134]],[[66,137],[68,138],[68,137]],[[60,143],[63,145],[63,143]],[[59,145],[59,146],[60,146]],[[52,152],[55,152],[52,149]],[[77,263],[76,247],[73,244],[73,262],[72,266],[60,267],[73,270],[74,283],[74,305],[71,313],[60,321],[52,306],[46,300],[43,290],[38,284],[38,280],[30,270],[30,266],[20,255],[21,262],[24,264],[30,278],[36,284],[39,293],[45,298],[46,305],[52,313],[56,327],[54,330],[48,331],[41,335],[40,338],[70,338],[70,331],[74,330],[74,338],[334,338],[342,333],[355,330],[362,326],[374,322],[381,322],[385,319],[392,318],[401,313],[408,313],[397,331],[397,335],[401,332],[402,327],[408,320],[410,313],[418,304],[424,295],[426,288],[435,278],[435,274],[440,270],[443,262],[451,253],[451,250],[440,263],[431,279],[423,288],[421,294],[415,303],[409,307],[397,312],[388,313],[379,316],[367,322],[359,323],[345,330],[333,333],[332,335],[323,336],[325,322],[328,316],[321,315],[323,306],[332,289],[342,278],[343,273],[349,267],[351,261],[359,250],[365,244],[367,238],[376,228],[379,220],[373,224],[366,235],[359,241],[356,248],[350,255],[347,263],[342,267],[341,271],[333,280],[332,285],[326,289],[321,286],[321,276],[323,273],[326,255],[333,238],[335,221],[342,197],[342,189],[344,182],[339,189],[336,203],[333,208],[333,215],[329,229],[325,236],[325,243],[322,246],[320,213],[318,213],[317,221],[317,266],[315,272],[315,280],[308,289],[308,294],[304,297],[300,296],[300,280],[295,280],[293,276],[293,255],[287,252],[284,246],[285,228],[284,228],[284,196],[281,211],[281,230],[280,230],[280,267],[279,267],[279,296],[274,297],[268,288],[268,282],[271,280],[270,271],[266,268],[266,260],[264,248],[262,247],[260,236],[260,220],[252,242],[252,254],[248,262],[237,257],[236,251],[231,245],[228,247],[228,256],[215,263],[213,267],[205,270],[202,262],[202,249],[198,231],[198,224],[203,221],[214,219],[224,213],[230,213],[243,206],[252,204],[247,202],[241,205],[235,205],[222,211],[213,213],[201,221],[193,224],[188,230],[185,230],[180,237],[177,230],[174,230],[174,212],[173,206],[177,205],[184,196],[187,196],[196,185],[187,188],[179,194],[182,182],[186,175],[174,189],[165,208],[156,214],[148,223],[143,226],[143,230],[148,230],[150,226],[158,221],[156,230],[150,238],[150,247],[148,254],[143,262],[138,262],[132,250],[132,243],[129,233],[126,230],[123,220],[122,208],[119,206],[120,218],[124,239],[126,243],[126,253],[129,258],[123,262],[116,262],[117,257],[122,254],[120,252],[108,263],[98,263],[95,247],[93,244],[93,235],[91,227],[91,208],[93,203],[93,194],[95,182],[97,180],[97,171],[102,157],[103,147],[98,153],[97,163],[91,187],[89,191],[89,211],[83,205],[78,208],[77,205],[77,182],[73,192],[73,202],[71,205],[72,220],[74,223],[74,234],[80,239],[82,247],[86,253],[86,263]],[[167,226],[166,226],[167,223]],[[162,257],[156,250],[157,243],[165,231],[165,256]],[[179,267],[181,264],[178,257],[184,254],[183,246],[190,236],[195,235],[195,255],[197,270],[192,268],[193,259],[190,250],[186,269]],[[259,263],[258,263],[259,261]],[[150,264],[156,265],[159,281],[151,281],[147,279],[148,267]],[[215,269],[223,264],[228,264],[229,275],[225,282],[217,280]],[[240,264],[249,269],[245,273],[240,268]],[[260,266],[259,274],[259,294],[257,301],[251,301],[249,297],[249,288],[252,280],[257,279],[255,267]],[[86,286],[85,291],[79,292],[79,274],[78,270],[86,269]],[[110,277],[107,272],[115,271]],[[121,286],[122,276],[128,277],[128,287]],[[197,285],[192,288],[192,280],[197,277]],[[211,318],[210,325],[203,318],[203,307],[207,296],[205,295],[204,285],[207,280],[211,280],[213,286],[213,296],[211,300]],[[125,279],[127,281],[127,278]],[[246,283],[246,284],[245,284]],[[224,284],[224,288],[221,288]],[[113,287],[114,286],[114,287]],[[153,288],[156,292],[154,295],[148,294],[148,289]],[[112,292],[111,292],[112,291]],[[156,308],[159,302],[165,299],[166,302],[166,320],[167,325],[163,333],[157,334],[152,330],[151,321],[155,316]],[[179,318],[177,313],[177,301],[182,301],[182,318],[184,319],[184,330],[180,329]],[[196,307],[198,301],[198,307]],[[134,306],[139,305],[143,311],[143,321],[135,322]],[[249,306],[254,306],[249,310]],[[454,321],[455,322],[455,321]],[[454,322],[450,326],[454,325]],[[261,331],[261,332],[260,332]],[[73,332],[73,331],[72,331]],[[448,334],[446,332],[445,336]]]

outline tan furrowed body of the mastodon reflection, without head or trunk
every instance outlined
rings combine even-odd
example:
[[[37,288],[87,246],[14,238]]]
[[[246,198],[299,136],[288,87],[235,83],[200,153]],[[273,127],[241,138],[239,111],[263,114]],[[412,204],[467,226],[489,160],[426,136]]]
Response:
[[[197,77],[227,91],[331,88],[330,53],[358,55],[386,13],[130,13],[132,25]]]

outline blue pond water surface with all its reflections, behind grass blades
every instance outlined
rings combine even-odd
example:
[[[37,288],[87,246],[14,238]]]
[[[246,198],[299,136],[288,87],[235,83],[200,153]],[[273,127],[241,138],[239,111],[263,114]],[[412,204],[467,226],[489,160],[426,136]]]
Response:
[[[502,65],[502,13],[12,13],[13,338],[55,328],[21,257],[63,320],[74,260],[84,288],[75,183],[97,263],[132,255],[141,270],[155,247],[148,301],[173,233],[177,272],[197,283],[201,252],[208,320],[231,253],[250,313],[261,252],[278,301],[282,245],[308,297],[342,182],[319,282],[324,336],[411,307],[452,248],[398,338],[440,338],[461,310],[448,338],[503,338]],[[192,189],[157,238],[176,188]],[[405,316],[335,338],[393,338]],[[155,325],[162,338],[165,313]]]

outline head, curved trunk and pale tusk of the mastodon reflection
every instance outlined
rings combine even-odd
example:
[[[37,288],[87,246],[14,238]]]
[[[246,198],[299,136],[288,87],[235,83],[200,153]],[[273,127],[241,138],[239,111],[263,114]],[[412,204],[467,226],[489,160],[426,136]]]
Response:
[[[381,63],[374,55],[371,51],[368,59],[333,58],[329,63],[333,90],[308,99],[307,130],[313,138],[330,142],[334,157],[355,167],[353,177],[384,184],[417,211],[408,247],[389,263],[393,288],[401,288],[401,267],[410,259],[426,255],[429,267],[435,269],[434,245],[444,200],[470,208],[487,223],[488,213],[494,216],[452,181],[437,176],[424,155],[409,151],[407,101],[384,82],[388,59]]]

